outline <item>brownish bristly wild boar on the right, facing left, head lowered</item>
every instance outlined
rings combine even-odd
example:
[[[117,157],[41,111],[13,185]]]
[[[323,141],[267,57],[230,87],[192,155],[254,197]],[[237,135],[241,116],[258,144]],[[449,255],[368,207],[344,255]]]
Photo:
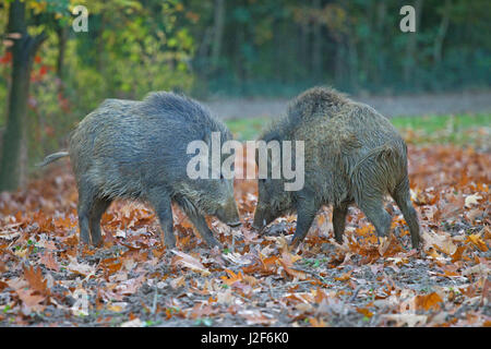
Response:
[[[298,245],[321,206],[333,205],[334,234],[342,242],[348,206],[356,203],[383,237],[392,220],[383,206],[388,193],[409,226],[412,246],[418,248],[419,222],[409,195],[406,144],[373,108],[335,89],[314,87],[292,100],[287,115],[273,122],[260,140],[304,142],[304,186],[288,192],[284,179],[260,179],[253,227],[262,229],[278,216],[297,212],[292,244]]]

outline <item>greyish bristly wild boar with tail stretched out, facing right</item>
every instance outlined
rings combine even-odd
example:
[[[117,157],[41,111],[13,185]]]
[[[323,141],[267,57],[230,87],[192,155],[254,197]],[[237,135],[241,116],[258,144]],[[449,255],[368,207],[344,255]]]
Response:
[[[229,226],[240,225],[232,179],[190,179],[187,146],[208,146],[212,132],[221,142],[230,131],[197,101],[172,93],[152,93],[143,101],[106,99],[72,132],[69,152],[51,154],[39,166],[70,156],[79,189],[81,240],[101,243],[100,218],[118,197],[148,202],[164,231],[163,242],[176,245],[171,202],[188,215],[208,245],[213,237],[204,215]],[[91,232],[91,233],[89,233]]]

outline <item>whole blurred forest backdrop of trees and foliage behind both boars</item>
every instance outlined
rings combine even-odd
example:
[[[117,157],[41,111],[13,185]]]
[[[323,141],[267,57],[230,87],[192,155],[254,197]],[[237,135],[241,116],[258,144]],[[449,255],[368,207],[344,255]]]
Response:
[[[72,27],[77,4],[87,32]],[[406,4],[416,33],[399,28]],[[16,188],[108,97],[487,89],[490,14],[488,0],[3,1],[0,190]]]

